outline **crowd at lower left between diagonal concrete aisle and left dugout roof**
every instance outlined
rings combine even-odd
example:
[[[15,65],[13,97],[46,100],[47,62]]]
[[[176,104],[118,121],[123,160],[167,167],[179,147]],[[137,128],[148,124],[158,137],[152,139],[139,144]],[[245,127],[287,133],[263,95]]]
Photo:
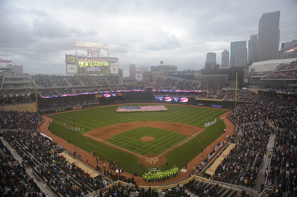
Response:
[[[45,180],[54,193],[76,197],[105,187],[102,175],[91,177],[75,163],[69,163],[63,156],[64,148],[39,132],[6,131],[4,138],[23,158],[23,165]]]

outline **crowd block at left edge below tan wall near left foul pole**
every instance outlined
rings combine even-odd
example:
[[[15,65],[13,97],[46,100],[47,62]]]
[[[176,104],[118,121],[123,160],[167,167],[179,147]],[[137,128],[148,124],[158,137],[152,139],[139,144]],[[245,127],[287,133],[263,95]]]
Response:
[[[36,129],[42,122],[42,118],[36,112],[0,111],[1,129]]]

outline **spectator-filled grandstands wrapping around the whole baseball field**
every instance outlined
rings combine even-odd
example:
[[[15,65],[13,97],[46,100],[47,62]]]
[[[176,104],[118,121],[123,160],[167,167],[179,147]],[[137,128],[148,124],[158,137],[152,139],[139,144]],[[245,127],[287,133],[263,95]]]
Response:
[[[204,159],[197,166],[189,166],[187,172],[189,179],[180,180],[178,176],[173,179],[172,183],[175,181],[181,183],[178,186],[177,183],[162,187],[151,186],[151,188],[147,185],[146,190],[145,183],[139,181],[141,178],[118,174],[115,170],[103,168],[102,164],[97,166],[89,164],[84,160],[83,153],[66,150],[53,139],[44,136],[38,131],[38,127],[45,121],[36,112],[1,110],[0,128],[3,133],[3,142],[0,142],[1,166],[12,172],[1,178],[2,193],[7,196],[12,193],[25,196],[27,192],[31,196],[35,194],[39,196],[40,193],[42,195],[46,192],[50,193],[49,196],[61,197],[101,196],[99,192],[111,196],[114,196],[114,193],[119,196],[128,196],[128,193],[129,196],[134,196],[135,193],[141,192],[142,196],[146,197],[163,196],[163,192],[178,197],[191,195],[234,197],[239,193],[242,193],[242,196],[244,193],[247,193],[247,196],[258,196],[260,192],[264,192],[261,195],[266,196],[278,192],[283,195],[296,193],[297,103],[294,96],[297,84],[296,71],[296,61],[293,61],[267,76],[252,77],[253,92],[238,90],[236,95],[238,105],[236,108],[233,107],[228,115],[234,123],[235,133],[225,137],[225,140],[212,147],[212,151],[205,153],[208,159]],[[34,100],[32,94],[34,95],[35,91],[31,89],[34,87],[34,76],[2,75],[0,78],[1,106],[26,104]],[[104,91],[112,94],[113,91],[119,90],[146,89],[145,85],[123,85],[119,76],[37,75],[35,80],[40,112],[61,108],[72,110],[75,106],[99,106],[104,99],[109,98],[98,99],[94,95],[105,94]],[[224,103],[233,103],[235,100],[234,90],[191,92],[199,88],[198,81],[158,76],[153,89],[163,91],[150,94],[187,96],[189,100],[192,99],[190,104],[195,105],[197,103],[202,105],[204,101],[214,103],[215,100],[220,100],[216,102],[221,102],[224,106]],[[97,93],[56,97],[91,92]],[[124,98],[129,94],[147,96],[144,93],[148,92],[123,91],[125,97],[121,99],[125,101]],[[5,99],[7,97],[13,100],[8,101]],[[114,98],[119,99],[119,96]],[[105,104],[117,103],[110,102],[111,100],[114,99],[106,100]],[[229,150],[228,147],[232,144],[235,145]],[[225,154],[224,151],[227,149],[229,152]],[[224,158],[214,166],[212,174],[207,173],[211,166],[216,164],[216,159],[220,158],[217,157],[218,154],[225,154]],[[70,158],[75,162],[80,161],[86,168],[76,166],[75,162],[69,162]],[[113,169],[121,168],[121,166],[113,167]],[[38,177],[34,179],[35,182],[29,178],[33,177],[33,174],[29,174],[29,169],[34,177]],[[98,172],[98,176],[92,177],[91,171],[87,172],[85,169],[92,169],[95,174]],[[10,182],[10,180],[18,181]],[[131,188],[129,183],[132,184]],[[143,186],[139,186],[139,183]],[[40,184],[47,186],[41,188]]]

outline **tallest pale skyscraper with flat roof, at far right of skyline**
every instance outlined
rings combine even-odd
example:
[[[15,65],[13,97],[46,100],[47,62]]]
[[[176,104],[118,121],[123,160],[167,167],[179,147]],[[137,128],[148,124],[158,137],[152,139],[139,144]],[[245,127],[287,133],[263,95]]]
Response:
[[[258,62],[279,57],[280,11],[265,13],[259,20]]]

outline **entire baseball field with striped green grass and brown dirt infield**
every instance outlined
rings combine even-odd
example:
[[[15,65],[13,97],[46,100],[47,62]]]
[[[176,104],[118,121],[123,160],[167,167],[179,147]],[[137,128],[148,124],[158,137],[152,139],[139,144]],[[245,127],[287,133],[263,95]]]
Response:
[[[119,105],[49,115],[50,132],[105,161],[141,176],[156,166],[179,169],[214,142],[226,127],[228,110],[165,105],[166,112],[116,113]],[[205,123],[216,122],[205,127]],[[65,123],[65,126],[64,126]],[[75,126],[79,131],[68,129]],[[83,131],[82,131],[83,130]],[[143,164],[144,167],[141,167]],[[108,164],[105,164],[108,167]]]

